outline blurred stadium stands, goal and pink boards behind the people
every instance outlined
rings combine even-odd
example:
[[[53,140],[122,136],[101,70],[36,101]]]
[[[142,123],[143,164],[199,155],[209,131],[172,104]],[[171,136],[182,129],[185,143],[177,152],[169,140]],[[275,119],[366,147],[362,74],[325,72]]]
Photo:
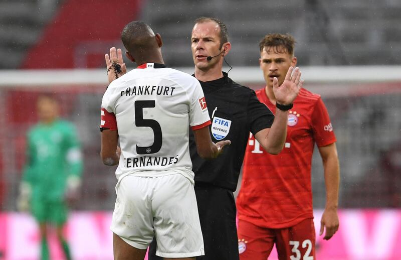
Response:
[[[304,87],[328,107],[341,166],[340,230],[329,241],[317,237],[318,258],[401,259],[399,14],[399,0],[1,0],[0,259],[36,259],[39,252],[35,223],[16,212],[16,198],[25,134],[37,121],[41,93],[57,95],[83,145],[82,198],[68,227],[73,255],[112,258],[108,224],[116,179],[99,158],[104,54],[123,47],[119,34],[126,23],[143,20],[161,34],[166,64],[192,73],[189,39],[199,16],[228,25],[230,76],[254,89],[264,86],[259,40],[274,32],[297,40]],[[319,228],[325,189],[317,152],[312,186]],[[57,245],[52,248],[52,259],[61,259]]]

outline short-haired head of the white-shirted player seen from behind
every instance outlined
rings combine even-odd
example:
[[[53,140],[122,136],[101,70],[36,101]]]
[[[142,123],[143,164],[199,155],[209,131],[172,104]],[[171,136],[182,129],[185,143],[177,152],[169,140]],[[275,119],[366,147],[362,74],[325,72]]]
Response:
[[[132,57],[144,57],[159,48],[153,30],[141,21],[127,24],[121,32],[121,41]]]

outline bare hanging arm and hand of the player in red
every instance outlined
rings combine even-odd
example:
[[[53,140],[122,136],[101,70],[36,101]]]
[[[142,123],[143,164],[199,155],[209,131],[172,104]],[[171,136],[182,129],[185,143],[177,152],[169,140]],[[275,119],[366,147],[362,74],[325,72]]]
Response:
[[[324,208],[320,235],[323,234],[324,227],[326,233],[324,239],[330,239],[338,230],[339,220],[337,214],[338,189],[340,185],[340,166],[338,162],[337,148],[335,143],[319,147],[324,168],[324,182],[326,185],[326,207]]]

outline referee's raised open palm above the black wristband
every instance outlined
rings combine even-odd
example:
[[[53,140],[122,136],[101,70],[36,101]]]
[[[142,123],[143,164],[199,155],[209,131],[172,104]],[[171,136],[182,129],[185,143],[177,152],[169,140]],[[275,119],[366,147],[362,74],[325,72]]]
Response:
[[[294,71],[294,73],[292,73]],[[276,101],[282,105],[291,104],[297,97],[299,90],[302,88],[303,80],[301,80],[301,71],[299,68],[290,67],[287,71],[283,84],[279,86],[278,79],[273,79],[273,92]]]

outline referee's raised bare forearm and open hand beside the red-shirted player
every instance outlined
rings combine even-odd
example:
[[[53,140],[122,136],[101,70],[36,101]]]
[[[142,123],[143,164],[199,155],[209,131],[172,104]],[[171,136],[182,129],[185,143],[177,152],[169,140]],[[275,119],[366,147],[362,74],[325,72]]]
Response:
[[[294,71],[294,73],[292,73]],[[278,85],[278,79],[273,80],[273,91],[276,101],[281,105],[291,105],[301,89],[303,80],[301,80],[301,71],[298,68],[288,69],[285,80],[281,86]],[[285,138],[287,136],[288,110],[276,109],[273,124],[270,128],[265,128],[255,134],[263,149],[273,155],[277,155],[283,150]]]

